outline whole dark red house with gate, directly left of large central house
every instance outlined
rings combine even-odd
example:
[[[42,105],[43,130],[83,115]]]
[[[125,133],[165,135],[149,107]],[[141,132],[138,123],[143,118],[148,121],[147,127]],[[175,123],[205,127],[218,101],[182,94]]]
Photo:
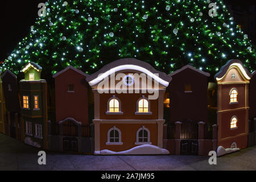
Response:
[[[89,85],[85,80],[88,76],[71,66],[53,75],[55,78],[56,133],[58,135],[51,136],[51,150],[92,152],[90,138],[88,138],[90,137]]]

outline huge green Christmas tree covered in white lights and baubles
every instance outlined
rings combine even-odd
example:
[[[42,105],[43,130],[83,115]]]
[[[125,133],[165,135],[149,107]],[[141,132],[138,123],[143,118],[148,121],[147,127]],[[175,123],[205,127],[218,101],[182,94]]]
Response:
[[[210,14],[210,3],[217,14]],[[29,61],[51,76],[68,65],[91,74],[132,57],[171,73],[186,64],[216,73],[240,59],[253,72],[255,49],[221,0],[57,0],[0,69],[18,74]]]

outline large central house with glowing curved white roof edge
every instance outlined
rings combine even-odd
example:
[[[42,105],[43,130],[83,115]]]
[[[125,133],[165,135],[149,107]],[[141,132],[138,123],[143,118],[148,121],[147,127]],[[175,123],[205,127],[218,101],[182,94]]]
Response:
[[[168,154],[163,100],[171,81],[136,59],[105,65],[86,78],[94,92],[94,154]]]

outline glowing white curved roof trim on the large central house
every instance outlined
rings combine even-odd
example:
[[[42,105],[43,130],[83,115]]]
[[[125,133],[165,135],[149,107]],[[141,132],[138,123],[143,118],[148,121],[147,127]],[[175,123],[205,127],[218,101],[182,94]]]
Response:
[[[105,77],[108,77],[112,73],[119,72],[119,71],[122,71],[122,70],[129,70],[129,69],[146,73],[148,76],[154,78],[154,80],[158,81],[160,84],[162,84],[162,85],[164,85],[166,87],[169,85],[169,82],[164,81],[162,78],[154,75],[154,73],[148,71],[146,68],[139,67],[137,65],[131,65],[131,64],[120,65],[118,67],[112,68],[109,71],[103,73],[101,76],[98,76],[94,80],[90,81],[89,85],[90,86],[96,85],[96,84],[98,84],[98,82],[100,82],[101,80],[104,80]]]

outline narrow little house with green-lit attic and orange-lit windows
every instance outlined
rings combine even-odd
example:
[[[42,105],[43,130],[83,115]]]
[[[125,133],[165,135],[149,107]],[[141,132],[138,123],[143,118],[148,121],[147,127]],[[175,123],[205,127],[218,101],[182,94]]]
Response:
[[[48,147],[47,82],[41,80],[42,67],[34,62],[27,63],[19,81],[22,105],[23,138],[26,144],[38,148]]]

